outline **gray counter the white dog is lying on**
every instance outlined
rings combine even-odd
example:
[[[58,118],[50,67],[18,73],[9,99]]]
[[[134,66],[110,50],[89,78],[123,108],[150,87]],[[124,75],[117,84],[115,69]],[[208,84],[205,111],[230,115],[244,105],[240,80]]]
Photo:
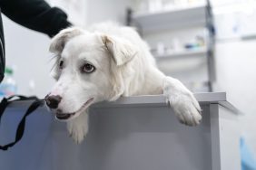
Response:
[[[163,96],[103,102],[90,110],[82,145],[45,108],[27,118],[25,136],[6,152],[2,170],[239,170],[238,110],[221,93],[197,93],[202,124],[180,124]],[[13,141],[29,101],[6,110],[0,142]]]

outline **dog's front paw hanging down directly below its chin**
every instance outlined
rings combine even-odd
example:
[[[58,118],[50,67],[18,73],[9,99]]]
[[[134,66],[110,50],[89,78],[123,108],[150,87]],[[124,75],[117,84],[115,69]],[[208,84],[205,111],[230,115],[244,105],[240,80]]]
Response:
[[[88,132],[88,113],[81,113],[77,118],[68,121],[67,130],[74,142],[80,144]]]

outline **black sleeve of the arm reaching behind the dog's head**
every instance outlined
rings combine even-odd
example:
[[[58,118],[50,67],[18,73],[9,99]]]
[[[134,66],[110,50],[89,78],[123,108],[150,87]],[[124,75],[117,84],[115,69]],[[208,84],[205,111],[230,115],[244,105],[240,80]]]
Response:
[[[67,15],[44,0],[0,0],[2,12],[17,24],[53,37],[70,26]]]

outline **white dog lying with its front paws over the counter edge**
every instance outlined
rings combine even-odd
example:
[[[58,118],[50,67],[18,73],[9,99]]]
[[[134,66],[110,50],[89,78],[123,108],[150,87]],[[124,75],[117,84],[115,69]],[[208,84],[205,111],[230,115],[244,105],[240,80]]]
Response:
[[[50,51],[57,56],[57,82],[45,100],[57,119],[67,121],[77,143],[88,131],[88,107],[121,96],[163,93],[183,124],[195,126],[202,119],[192,92],[157,69],[148,45],[131,27],[68,28],[54,37]]]

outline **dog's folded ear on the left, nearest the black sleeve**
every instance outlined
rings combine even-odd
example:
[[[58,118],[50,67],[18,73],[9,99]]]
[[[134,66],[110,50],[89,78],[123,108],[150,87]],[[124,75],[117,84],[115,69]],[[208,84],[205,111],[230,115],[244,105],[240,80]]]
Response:
[[[83,33],[82,29],[72,27],[62,30],[60,33],[56,34],[52,39],[50,44],[49,51],[61,53],[64,50],[64,45],[74,36],[80,35]]]

